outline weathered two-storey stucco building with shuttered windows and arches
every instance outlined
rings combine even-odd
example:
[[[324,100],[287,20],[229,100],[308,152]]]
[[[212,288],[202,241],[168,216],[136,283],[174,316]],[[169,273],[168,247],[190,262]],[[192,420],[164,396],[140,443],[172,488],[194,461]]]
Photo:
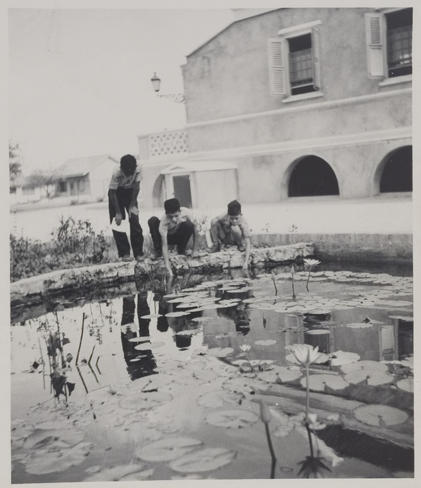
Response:
[[[154,152],[168,133],[139,137],[145,204],[175,194],[164,177],[175,160],[191,189],[192,168],[232,165],[221,197],[242,203],[411,192],[412,8],[235,14],[182,67],[187,125],[171,133],[182,150]]]

